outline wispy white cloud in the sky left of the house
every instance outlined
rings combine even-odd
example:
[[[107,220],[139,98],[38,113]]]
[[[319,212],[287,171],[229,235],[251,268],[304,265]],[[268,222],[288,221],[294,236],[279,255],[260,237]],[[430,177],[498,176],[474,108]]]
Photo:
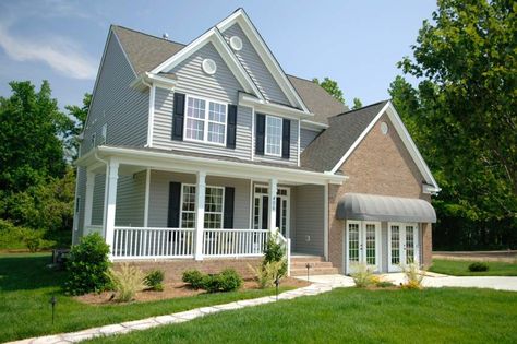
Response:
[[[71,40],[59,36],[45,39],[15,37],[0,25],[0,47],[16,61],[43,61],[53,70],[73,79],[93,80],[96,62]]]

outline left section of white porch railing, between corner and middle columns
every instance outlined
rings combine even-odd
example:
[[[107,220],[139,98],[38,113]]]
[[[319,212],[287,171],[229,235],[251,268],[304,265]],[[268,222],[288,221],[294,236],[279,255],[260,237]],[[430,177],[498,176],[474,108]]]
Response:
[[[193,228],[115,227],[116,259],[193,258]]]

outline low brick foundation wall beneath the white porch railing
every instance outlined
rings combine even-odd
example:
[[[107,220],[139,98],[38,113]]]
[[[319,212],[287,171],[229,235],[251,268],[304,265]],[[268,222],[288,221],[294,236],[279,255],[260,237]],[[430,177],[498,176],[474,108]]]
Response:
[[[235,269],[243,278],[254,277],[253,272],[248,266],[249,264],[256,268],[261,264],[262,258],[239,258],[239,259],[205,259],[202,261],[195,260],[145,260],[131,261],[132,265],[136,265],[144,272],[159,269],[165,272],[165,282],[181,281],[183,271],[197,269],[203,273],[218,273],[225,269]],[[115,265],[122,262],[116,262]]]

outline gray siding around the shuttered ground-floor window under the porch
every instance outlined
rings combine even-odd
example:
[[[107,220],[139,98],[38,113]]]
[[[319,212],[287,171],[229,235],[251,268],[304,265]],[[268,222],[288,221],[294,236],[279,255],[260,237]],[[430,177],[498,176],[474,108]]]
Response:
[[[152,171],[149,194],[149,227],[166,227],[169,205],[169,182],[195,183],[195,175]],[[250,226],[250,181],[223,177],[206,177],[207,186],[236,188],[233,227],[238,229]]]

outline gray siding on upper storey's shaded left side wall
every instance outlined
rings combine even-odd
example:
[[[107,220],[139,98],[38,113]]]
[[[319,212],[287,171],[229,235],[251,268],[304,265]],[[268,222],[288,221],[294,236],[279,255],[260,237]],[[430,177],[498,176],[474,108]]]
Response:
[[[84,129],[81,154],[92,149],[92,134],[101,141],[107,123],[107,144],[143,146],[147,140],[148,91],[131,88],[135,79],[115,34],[108,39],[92,108]]]

